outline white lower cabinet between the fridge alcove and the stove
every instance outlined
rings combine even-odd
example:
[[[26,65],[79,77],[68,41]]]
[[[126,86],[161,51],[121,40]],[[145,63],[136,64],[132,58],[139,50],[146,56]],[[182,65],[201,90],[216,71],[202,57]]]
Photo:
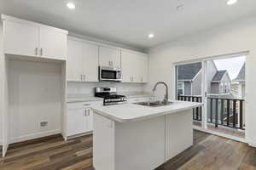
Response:
[[[79,105],[79,104],[70,104]],[[73,107],[67,109],[67,137],[93,130],[93,114],[90,107]],[[67,106],[68,107],[68,106]]]

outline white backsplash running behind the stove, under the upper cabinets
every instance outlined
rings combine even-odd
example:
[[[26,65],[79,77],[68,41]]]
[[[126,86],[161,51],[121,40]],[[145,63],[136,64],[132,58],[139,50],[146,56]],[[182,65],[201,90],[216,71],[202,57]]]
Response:
[[[118,94],[143,94],[145,84],[123,82],[67,82],[67,95],[70,97],[93,96],[95,87],[115,87]]]

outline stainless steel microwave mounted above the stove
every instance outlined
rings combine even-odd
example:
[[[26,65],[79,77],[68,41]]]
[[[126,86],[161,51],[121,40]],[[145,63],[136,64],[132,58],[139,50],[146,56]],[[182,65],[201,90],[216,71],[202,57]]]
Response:
[[[122,71],[119,68],[99,66],[99,80],[121,82]]]

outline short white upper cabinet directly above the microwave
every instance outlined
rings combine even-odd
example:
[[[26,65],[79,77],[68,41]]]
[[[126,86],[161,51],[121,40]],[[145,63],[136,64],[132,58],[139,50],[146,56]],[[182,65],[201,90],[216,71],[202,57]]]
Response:
[[[109,66],[121,68],[121,53],[118,48],[99,48],[99,64],[101,66]]]

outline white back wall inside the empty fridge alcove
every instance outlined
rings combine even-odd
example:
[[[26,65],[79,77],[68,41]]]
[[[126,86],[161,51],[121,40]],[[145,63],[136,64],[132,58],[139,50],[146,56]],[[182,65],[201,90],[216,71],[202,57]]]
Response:
[[[40,127],[40,122],[48,122]],[[10,143],[61,130],[61,65],[33,61],[9,62]]]

